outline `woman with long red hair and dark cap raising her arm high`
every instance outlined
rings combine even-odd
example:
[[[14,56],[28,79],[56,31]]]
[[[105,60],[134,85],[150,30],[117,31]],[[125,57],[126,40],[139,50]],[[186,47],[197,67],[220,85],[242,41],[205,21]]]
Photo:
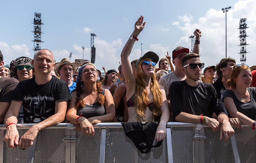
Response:
[[[155,139],[160,141],[166,136],[166,124],[169,120],[169,109],[166,95],[156,81],[155,65],[159,57],[154,52],[147,52],[136,62],[135,75],[132,71],[129,55],[138,35],[146,22],[143,17],[135,23],[135,28],[121,52],[123,75],[126,79],[126,96],[128,122],[154,121],[154,115],[161,115]]]

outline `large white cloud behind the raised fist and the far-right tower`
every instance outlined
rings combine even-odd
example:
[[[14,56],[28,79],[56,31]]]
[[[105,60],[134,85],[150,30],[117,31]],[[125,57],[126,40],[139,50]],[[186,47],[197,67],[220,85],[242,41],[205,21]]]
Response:
[[[238,1],[234,7],[227,12],[227,57],[236,59],[237,63],[240,62],[240,44],[239,41],[239,22],[241,18],[247,18],[247,61],[248,65],[255,64],[255,51],[256,40],[256,17],[255,10],[256,1]],[[198,19],[197,22],[191,23],[193,17],[179,16],[183,23],[173,23],[184,34],[175,46],[184,46],[191,49],[191,36],[195,29],[202,31],[200,38],[200,54],[201,61],[208,65],[216,65],[220,59],[225,57],[225,13],[221,10],[210,9],[204,17]]]

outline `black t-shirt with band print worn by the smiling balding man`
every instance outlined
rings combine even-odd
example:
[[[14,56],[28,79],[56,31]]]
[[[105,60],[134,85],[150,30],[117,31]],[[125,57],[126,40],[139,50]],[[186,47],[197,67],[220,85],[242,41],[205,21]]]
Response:
[[[42,85],[33,77],[18,84],[12,100],[23,101],[24,123],[39,123],[55,114],[55,101],[69,101],[70,93],[66,82],[56,77]]]

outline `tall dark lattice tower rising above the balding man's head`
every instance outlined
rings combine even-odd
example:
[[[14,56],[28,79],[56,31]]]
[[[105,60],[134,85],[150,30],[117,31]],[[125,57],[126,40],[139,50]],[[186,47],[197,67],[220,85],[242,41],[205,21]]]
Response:
[[[41,42],[43,42],[41,40],[41,34],[43,34],[43,32],[41,32],[41,25],[43,24],[41,22],[41,13],[35,13],[35,17],[34,17],[34,52],[37,52],[38,50],[41,49]]]

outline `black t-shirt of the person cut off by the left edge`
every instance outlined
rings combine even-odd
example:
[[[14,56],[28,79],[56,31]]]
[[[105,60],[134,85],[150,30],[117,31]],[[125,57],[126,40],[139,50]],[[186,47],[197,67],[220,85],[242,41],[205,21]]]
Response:
[[[12,91],[19,81],[15,78],[0,78],[0,102],[11,102]]]

